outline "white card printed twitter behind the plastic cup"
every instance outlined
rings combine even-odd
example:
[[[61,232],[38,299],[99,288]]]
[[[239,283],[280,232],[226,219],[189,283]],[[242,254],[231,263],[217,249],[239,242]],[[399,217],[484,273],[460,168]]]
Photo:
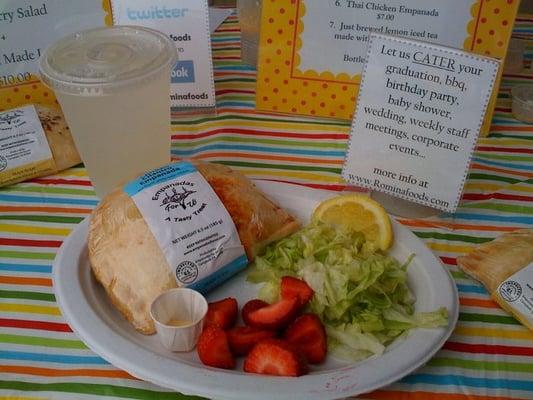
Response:
[[[176,43],[172,107],[215,106],[207,0],[112,0],[111,4],[114,24],[157,29]]]

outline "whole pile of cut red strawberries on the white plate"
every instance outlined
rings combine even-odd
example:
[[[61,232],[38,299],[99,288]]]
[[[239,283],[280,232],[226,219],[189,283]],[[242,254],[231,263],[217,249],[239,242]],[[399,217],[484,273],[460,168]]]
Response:
[[[204,331],[198,340],[198,356],[208,366],[233,369],[244,356],[245,372],[300,376],[308,364],[326,359],[327,338],[322,321],[303,313],[313,289],[301,279],[281,279],[280,299],[272,304],[259,299],[242,308],[244,326],[237,321],[237,301],[225,298],[208,305]]]

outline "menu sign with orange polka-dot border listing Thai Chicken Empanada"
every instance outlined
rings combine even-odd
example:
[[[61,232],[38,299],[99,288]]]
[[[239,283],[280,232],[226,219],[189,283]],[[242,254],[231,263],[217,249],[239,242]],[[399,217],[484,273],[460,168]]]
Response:
[[[351,119],[371,33],[505,57],[517,0],[264,1],[258,109]],[[488,127],[491,97],[483,130]]]

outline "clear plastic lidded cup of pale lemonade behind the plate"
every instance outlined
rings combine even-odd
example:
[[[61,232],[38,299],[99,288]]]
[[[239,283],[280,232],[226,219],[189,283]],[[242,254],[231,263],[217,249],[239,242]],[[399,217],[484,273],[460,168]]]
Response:
[[[170,71],[176,47],[137,26],[82,31],[39,60],[96,194],[170,161]]]

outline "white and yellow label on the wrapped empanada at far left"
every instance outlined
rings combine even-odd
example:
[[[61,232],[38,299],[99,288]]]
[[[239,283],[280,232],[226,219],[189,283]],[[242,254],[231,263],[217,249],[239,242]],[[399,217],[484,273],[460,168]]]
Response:
[[[35,107],[0,113],[0,186],[54,170],[50,145]]]

